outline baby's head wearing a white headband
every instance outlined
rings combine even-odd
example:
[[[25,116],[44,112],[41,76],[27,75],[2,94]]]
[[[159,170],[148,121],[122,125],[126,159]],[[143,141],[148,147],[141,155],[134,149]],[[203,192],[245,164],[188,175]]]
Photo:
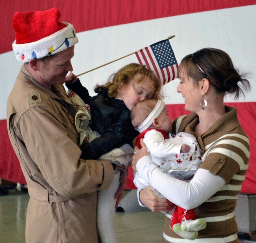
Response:
[[[131,111],[133,127],[143,132],[148,128],[162,129],[169,133],[172,128],[172,120],[163,101],[158,99],[143,100],[134,105]]]

